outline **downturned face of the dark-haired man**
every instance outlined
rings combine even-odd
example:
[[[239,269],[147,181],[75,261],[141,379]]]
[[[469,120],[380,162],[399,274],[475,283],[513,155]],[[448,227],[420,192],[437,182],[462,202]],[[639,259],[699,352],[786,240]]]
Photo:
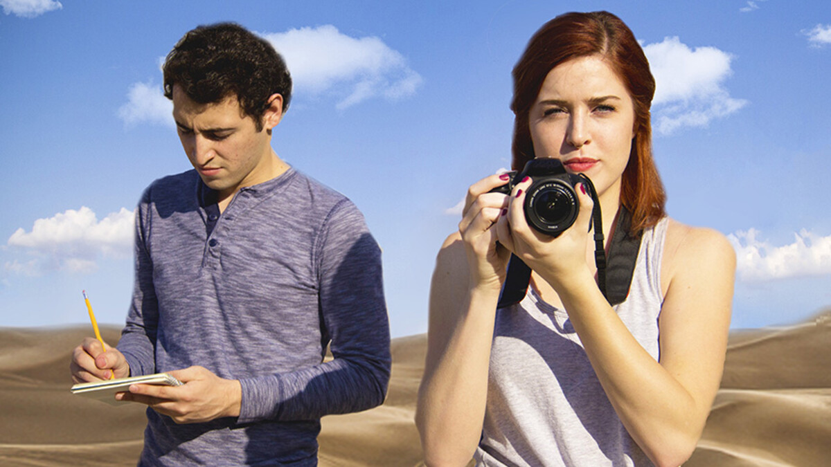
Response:
[[[278,102],[278,109],[281,103]],[[273,107],[266,111],[263,128],[257,130],[253,118],[243,114],[237,96],[199,104],[179,85],[173,87],[173,118],[179,140],[204,184],[219,192],[220,202],[229,201],[240,188],[272,178],[269,167],[273,151],[268,130],[276,125],[269,113]]]

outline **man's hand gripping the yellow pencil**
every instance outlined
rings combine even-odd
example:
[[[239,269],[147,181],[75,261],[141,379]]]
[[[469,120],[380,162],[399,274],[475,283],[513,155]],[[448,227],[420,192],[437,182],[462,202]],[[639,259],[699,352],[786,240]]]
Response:
[[[109,380],[110,376],[124,378],[130,376],[130,365],[115,347],[106,346],[101,342],[86,337],[81,345],[72,351],[72,361],[69,364],[72,381],[85,383],[89,381]]]

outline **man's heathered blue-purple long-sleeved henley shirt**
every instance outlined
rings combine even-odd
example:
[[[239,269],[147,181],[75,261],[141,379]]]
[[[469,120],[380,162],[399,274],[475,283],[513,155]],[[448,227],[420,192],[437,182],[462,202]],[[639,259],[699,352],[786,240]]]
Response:
[[[241,413],[177,425],[148,410],[145,445],[205,462],[230,443],[247,448],[229,464],[288,462],[317,450],[322,415],[384,400],[381,251],[349,199],[294,170],[240,189],[219,216],[205,189],[189,170],[145,191],[118,348],[132,375],[203,366],[240,381]]]

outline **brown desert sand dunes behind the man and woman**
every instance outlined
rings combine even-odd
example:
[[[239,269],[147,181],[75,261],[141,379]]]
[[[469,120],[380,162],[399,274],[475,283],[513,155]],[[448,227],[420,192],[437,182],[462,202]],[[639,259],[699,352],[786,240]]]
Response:
[[[135,465],[143,406],[69,392],[87,327],[0,328],[0,465]],[[119,331],[105,327],[107,342]],[[383,406],[322,420],[320,465],[423,465],[413,423],[425,335],[392,343]],[[831,465],[831,310],[789,327],[730,334],[721,389],[687,466]]]

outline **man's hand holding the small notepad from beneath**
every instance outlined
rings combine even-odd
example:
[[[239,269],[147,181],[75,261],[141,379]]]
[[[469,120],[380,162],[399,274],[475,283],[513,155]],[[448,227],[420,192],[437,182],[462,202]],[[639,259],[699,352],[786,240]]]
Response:
[[[138,384],[130,392],[116,395],[120,401],[140,402],[176,423],[199,423],[226,416],[238,416],[242,386],[237,380],[225,380],[202,366],[168,371],[183,386]]]

